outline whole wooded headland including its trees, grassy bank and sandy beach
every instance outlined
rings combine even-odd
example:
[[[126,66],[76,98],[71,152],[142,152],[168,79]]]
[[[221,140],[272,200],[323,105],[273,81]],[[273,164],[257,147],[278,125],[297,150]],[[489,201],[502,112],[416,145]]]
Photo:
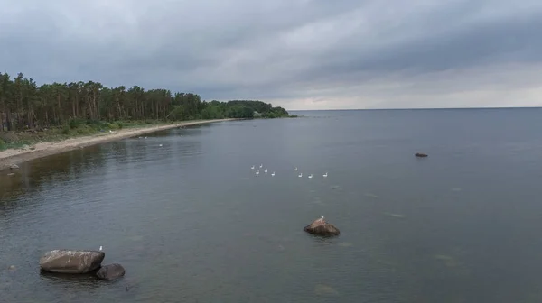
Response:
[[[259,100],[205,101],[166,88],[95,81],[40,86],[0,72],[0,170],[50,154],[182,125],[294,117]]]

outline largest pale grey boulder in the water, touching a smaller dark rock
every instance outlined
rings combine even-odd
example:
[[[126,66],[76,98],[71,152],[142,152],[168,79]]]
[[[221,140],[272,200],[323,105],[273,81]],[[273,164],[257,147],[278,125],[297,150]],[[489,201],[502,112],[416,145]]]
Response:
[[[54,250],[40,258],[43,271],[87,273],[101,266],[106,253],[97,251]]]

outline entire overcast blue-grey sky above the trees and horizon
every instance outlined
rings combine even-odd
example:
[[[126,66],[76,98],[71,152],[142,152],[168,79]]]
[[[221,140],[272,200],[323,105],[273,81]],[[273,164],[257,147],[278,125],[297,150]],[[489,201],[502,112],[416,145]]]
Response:
[[[0,69],[286,109],[542,106],[540,0],[0,0]]]

